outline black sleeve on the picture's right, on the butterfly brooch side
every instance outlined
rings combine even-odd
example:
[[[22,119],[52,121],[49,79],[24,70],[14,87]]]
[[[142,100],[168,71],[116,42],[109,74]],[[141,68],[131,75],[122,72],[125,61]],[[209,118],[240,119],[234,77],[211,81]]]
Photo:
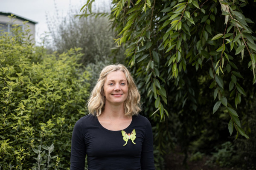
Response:
[[[140,163],[141,170],[155,170],[153,154],[153,133],[149,121],[147,122],[145,129],[145,139],[142,146]]]

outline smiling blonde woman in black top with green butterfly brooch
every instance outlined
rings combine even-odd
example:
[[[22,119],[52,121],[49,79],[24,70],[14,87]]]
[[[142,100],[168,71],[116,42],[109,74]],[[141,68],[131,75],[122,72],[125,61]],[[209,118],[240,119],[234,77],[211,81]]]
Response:
[[[140,94],[124,65],[102,69],[88,101],[90,114],[76,122],[70,170],[154,170],[151,124],[139,115]]]

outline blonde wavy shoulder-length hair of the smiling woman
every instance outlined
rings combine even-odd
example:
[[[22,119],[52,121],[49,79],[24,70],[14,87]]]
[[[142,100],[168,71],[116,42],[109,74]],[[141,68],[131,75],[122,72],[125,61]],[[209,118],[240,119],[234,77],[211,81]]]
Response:
[[[104,83],[108,74],[113,71],[124,72],[128,82],[128,95],[127,95],[127,99],[124,102],[125,115],[133,116],[133,115],[139,114],[139,112],[141,111],[140,93],[134,83],[134,79],[132,78],[131,73],[122,64],[108,65],[102,69],[99,75],[99,79],[96,85],[94,86],[90,94],[90,99],[87,103],[90,114],[99,116],[104,111],[104,108],[105,108],[105,96],[104,96],[104,89],[103,89]]]

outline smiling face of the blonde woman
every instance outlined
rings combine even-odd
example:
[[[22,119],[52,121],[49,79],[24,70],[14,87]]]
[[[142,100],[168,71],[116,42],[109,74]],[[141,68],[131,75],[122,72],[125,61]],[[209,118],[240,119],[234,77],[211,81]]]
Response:
[[[112,71],[104,83],[105,105],[120,105],[127,99],[128,82],[122,71]]]

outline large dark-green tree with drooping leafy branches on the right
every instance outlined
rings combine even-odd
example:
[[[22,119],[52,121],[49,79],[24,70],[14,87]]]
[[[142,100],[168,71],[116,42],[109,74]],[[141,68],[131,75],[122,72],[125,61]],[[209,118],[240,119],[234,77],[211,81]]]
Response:
[[[93,14],[93,1],[87,0],[81,8],[83,16]],[[177,133],[180,142],[188,146],[186,137],[192,137],[189,133],[193,131],[199,133],[201,128],[196,126],[207,126],[205,115],[211,113],[215,120],[219,119],[216,114],[226,115],[230,135],[235,127],[236,138],[239,133],[249,138],[250,131],[243,125],[246,122],[240,121],[246,113],[239,104],[249,108],[247,103],[255,97],[255,0],[112,3],[109,17],[117,33],[116,43],[125,45],[131,70],[139,87],[144,87],[145,113],[166,125],[176,125],[166,133],[166,127],[155,121],[160,148],[168,143],[163,141],[170,144]]]

